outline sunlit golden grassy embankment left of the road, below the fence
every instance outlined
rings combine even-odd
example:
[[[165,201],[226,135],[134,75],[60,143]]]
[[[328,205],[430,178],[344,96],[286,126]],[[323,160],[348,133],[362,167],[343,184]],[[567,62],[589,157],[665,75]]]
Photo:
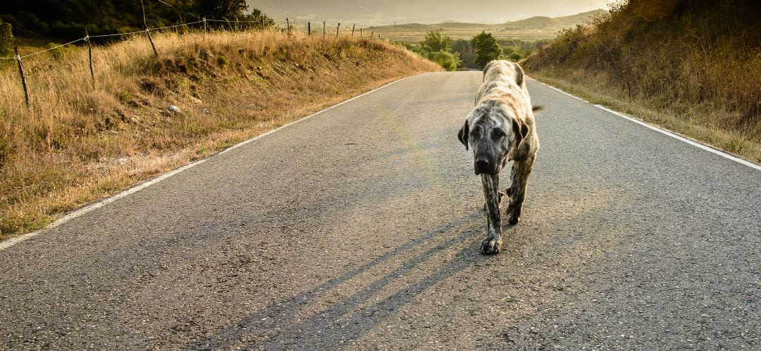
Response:
[[[350,96],[438,71],[378,40],[283,33],[159,35],[0,70],[0,239]],[[178,106],[181,113],[167,107]],[[358,116],[361,118],[361,116]]]

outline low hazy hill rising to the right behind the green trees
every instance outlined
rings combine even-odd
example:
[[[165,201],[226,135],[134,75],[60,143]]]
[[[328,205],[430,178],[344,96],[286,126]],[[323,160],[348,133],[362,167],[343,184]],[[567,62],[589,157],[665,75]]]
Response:
[[[606,10],[594,10],[562,17],[535,16],[503,24],[446,21],[439,24],[410,23],[374,26],[364,28],[363,30],[374,35],[380,34],[384,39],[391,38],[392,40],[408,43],[419,42],[425,36],[425,33],[431,30],[439,31],[442,35],[451,36],[453,39],[470,39],[483,30],[491,32],[500,39],[539,40],[554,38],[559,30],[575,27],[577,24],[583,23],[587,18],[599,14],[607,14],[607,12]]]

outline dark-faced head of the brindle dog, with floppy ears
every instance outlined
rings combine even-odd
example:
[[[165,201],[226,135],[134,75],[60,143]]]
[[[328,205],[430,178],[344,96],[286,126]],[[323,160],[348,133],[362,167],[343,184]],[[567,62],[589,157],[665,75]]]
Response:
[[[498,100],[479,104],[470,112],[457,134],[460,142],[473,148],[476,175],[497,174],[527,137],[529,128],[515,112]]]

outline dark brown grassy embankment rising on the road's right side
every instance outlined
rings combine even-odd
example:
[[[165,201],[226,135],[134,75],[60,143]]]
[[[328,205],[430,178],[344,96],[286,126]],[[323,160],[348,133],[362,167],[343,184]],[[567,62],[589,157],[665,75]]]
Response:
[[[761,4],[632,0],[524,61],[532,77],[761,163]]]

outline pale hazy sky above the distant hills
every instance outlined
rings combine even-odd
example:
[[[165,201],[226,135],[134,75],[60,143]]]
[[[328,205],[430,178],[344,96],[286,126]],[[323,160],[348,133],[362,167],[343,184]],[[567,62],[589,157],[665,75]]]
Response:
[[[270,17],[361,26],[443,21],[500,24],[608,9],[610,0],[247,0]]]

